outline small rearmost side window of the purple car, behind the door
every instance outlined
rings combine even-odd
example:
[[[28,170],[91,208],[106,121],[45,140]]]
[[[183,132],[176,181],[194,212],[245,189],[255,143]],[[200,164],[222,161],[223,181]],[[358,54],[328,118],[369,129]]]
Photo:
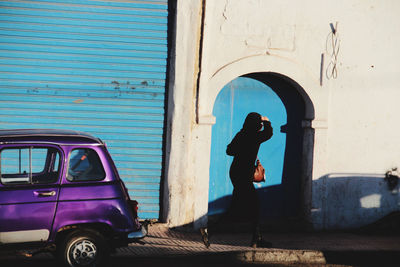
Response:
[[[69,156],[67,180],[100,181],[106,177],[97,152],[89,148],[73,149]]]

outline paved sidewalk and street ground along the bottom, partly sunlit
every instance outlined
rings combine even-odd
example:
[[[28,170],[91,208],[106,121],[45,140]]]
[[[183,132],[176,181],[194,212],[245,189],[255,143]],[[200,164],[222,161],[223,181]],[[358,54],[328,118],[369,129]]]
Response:
[[[356,233],[265,233],[273,248],[252,249],[249,233],[219,233],[205,248],[200,234],[170,230],[164,224],[149,226],[149,235],[142,244],[121,248],[114,259],[190,259],[193,266],[219,266],[217,263],[332,265],[332,266],[400,266],[400,235],[368,235]],[[23,259],[20,255],[7,255],[6,260]],[[32,260],[51,259],[48,253],[35,255]],[[5,262],[5,261],[4,261]],[[129,261],[128,261],[129,262]],[[167,263],[168,260],[162,260]],[[29,262],[27,263],[29,264]],[[217,265],[214,265],[217,264]],[[4,265],[4,264],[0,264]],[[232,264],[229,264],[232,265]],[[22,266],[22,265],[21,265]],[[51,266],[51,265],[49,265]],[[124,265],[129,266],[129,265]],[[173,266],[168,265],[167,266]],[[222,266],[222,265],[221,265]]]

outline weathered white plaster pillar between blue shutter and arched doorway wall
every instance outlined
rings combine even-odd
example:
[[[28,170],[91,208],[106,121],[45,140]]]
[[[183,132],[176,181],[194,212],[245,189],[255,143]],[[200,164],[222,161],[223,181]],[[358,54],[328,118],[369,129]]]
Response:
[[[194,163],[191,158],[200,41],[201,2],[179,0],[174,25],[168,93],[165,180],[161,220],[170,226],[194,221]]]

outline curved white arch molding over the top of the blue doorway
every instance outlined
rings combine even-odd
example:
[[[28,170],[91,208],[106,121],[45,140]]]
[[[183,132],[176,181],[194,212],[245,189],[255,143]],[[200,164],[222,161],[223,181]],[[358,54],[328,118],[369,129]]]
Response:
[[[199,124],[215,123],[212,115],[214,103],[227,83],[239,76],[258,72],[273,72],[295,81],[294,88],[305,102],[305,119],[311,121],[315,118],[313,88],[319,87],[319,77],[296,61],[277,56],[255,55],[226,64],[211,75],[202,75],[198,102]],[[303,88],[307,88],[307,92]]]

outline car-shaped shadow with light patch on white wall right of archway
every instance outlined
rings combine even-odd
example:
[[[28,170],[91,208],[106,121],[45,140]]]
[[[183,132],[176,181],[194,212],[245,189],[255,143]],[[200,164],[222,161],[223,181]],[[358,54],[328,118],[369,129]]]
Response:
[[[313,226],[354,229],[400,211],[399,185],[390,189],[384,175],[329,174],[313,181]]]

